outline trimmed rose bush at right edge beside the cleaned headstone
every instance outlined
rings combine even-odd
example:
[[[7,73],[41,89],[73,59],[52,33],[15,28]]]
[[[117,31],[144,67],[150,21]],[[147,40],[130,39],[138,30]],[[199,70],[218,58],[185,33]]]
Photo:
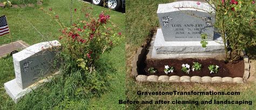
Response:
[[[216,11],[214,26],[224,40],[227,60],[240,59],[243,51],[256,45],[255,1],[208,0],[207,2],[212,4]]]

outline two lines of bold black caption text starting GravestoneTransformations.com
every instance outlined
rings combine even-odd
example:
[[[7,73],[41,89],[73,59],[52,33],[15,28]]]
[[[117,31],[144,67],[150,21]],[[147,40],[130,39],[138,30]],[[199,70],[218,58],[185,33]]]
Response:
[[[147,92],[147,91],[137,91],[137,95],[147,95],[150,97],[151,95],[241,95],[240,92],[216,92],[216,91],[188,91],[188,92],[181,92],[181,91],[156,91],[156,92]],[[214,105],[252,105],[251,100],[240,99],[240,100],[218,100],[218,99],[209,99],[209,100],[183,100],[183,99],[175,99],[175,100],[118,100],[118,104],[160,104],[160,105],[179,105],[179,104],[186,104],[186,105],[207,105],[207,104],[214,104]]]

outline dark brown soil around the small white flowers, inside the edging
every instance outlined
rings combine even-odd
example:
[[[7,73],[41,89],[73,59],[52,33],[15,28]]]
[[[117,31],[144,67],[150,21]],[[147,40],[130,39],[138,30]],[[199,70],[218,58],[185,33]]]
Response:
[[[181,65],[182,64],[188,64],[190,65],[190,68],[192,68],[193,62],[199,62],[202,64],[202,68],[200,71],[190,71],[189,74],[184,73],[181,71]],[[225,63],[223,60],[216,60],[216,59],[147,59],[145,60],[145,63],[142,64],[145,65],[144,67],[140,67],[139,70],[143,71],[140,72],[140,74],[143,75],[166,75],[164,72],[164,65],[169,65],[174,67],[174,72],[169,73],[168,75],[188,75],[190,77],[192,76],[199,76],[199,77],[242,77],[244,75],[244,60],[239,60],[237,63]],[[212,73],[210,74],[210,70],[208,69],[209,65],[218,65],[219,71],[218,73]],[[149,73],[147,72],[147,69],[150,67],[154,67],[157,69],[157,73]]]

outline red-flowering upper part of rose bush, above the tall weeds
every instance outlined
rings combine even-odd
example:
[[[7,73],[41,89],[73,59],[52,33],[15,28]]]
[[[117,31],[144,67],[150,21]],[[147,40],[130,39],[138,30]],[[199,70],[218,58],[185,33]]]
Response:
[[[80,20],[79,23],[62,29],[59,40],[62,43],[63,54],[76,61],[82,70],[92,71],[95,61],[105,51],[112,49],[122,35],[107,28],[110,16],[104,12],[100,13],[98,18],[86,17],[88,20]]]

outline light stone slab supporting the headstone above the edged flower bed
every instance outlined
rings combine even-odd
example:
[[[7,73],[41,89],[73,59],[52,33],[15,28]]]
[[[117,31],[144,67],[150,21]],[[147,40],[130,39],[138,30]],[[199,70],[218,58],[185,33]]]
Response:
[[[158,36],[158,37],[156,37]],[[220,43],[219,43],[220,42]],[[161,29],[157,30],[156,35],[153,36],[150,47],[149,47],[149,53],[147,53],[147,59],[169,59],[169,58],[216,58],[216,59],[224,59],[225,58],[225,52],[224,52],[224,44],[221,43],[221,39],[216,39],[214,41],[208,42],[207,47],[214,47],[217,46],[220,51],[215,52],[207,52],[207,49],[204,49],[201,47],[200,42],[165,42],[163,34],[161,32]],[[157,47],[157,49],[156,49]],[[183,50],[184,52],[172,52],[168,50],[161,50],[166,48],[172,48],[172,47],[180,47],[180,48],[187,48],[187,50]],[[191,48],[197,47],[199,50],[194,50]],[[214,47],[216,48],[216,47]],[[213,49],[213,48],[211,48]],[[210,49],[208,49],[210,50]],[[188,53],[186,53],[187,51]],[[193,51],[195,51],[193,53]],[[198,52],[199,51],[199,52]],[[196,53],[197,52],[197,53]]]

